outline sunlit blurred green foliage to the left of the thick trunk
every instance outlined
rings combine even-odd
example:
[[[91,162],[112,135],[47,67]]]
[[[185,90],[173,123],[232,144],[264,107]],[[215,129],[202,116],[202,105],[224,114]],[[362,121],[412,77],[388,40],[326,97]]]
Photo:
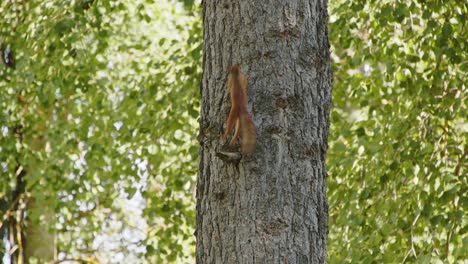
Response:
[[[1,1],[0,13],[2,211],[14,203],[23,168],[26,192],[55,209],[56,219],[40,223],[57,230],[62,259],[104,250],[123,253],[124,262],[190,262],[198,5]],[[124,200],[135,194],[145,225],[132,227]],[[28,212],[33,222],[41,216]],[[109,232],[128,234],[109,241]],[[96,244],[99,236],[105,239]]]

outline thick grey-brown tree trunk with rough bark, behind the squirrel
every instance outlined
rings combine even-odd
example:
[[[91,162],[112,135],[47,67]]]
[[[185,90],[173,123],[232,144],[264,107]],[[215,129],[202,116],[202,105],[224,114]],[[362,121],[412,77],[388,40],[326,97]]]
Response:
[[[203,2],[198,263],[325,263],[331,99],[326,0]],[[253,155],[219,136],[229,68],[248,75]],[[238,151],[238,150],[235,150]]]

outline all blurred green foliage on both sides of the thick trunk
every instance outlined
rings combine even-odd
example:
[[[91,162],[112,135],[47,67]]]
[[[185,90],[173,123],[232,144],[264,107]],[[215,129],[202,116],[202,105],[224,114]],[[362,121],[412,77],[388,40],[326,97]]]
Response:
[[[133,230],[113,253],[193,262],[199,3],[2,1],[0,13],[0,200],[13,202],[21,166],[55,209],[62,258]],[[329,13],[329,262],[466,260],[466,4],[339,0]],[[124,200],[138,195],[135,216]]]

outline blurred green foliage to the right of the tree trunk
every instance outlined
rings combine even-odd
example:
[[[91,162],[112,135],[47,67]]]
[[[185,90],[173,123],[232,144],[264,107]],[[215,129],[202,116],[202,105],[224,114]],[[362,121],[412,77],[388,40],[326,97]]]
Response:
[[[468,259],[463,1],[332,1],[330,263]]]

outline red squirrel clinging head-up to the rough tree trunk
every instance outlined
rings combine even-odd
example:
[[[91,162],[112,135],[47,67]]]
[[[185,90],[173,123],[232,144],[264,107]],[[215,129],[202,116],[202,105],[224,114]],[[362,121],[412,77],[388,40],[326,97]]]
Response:
[[[255,151],[257,133],[255,131],[255,124],[247,111],[247,75],[240,72],[238,64],[234,64],[231,67],[228,87],[231,93],[232,105],[226,124],[226,132],[221,136],[221,140],[226,140],[235,124],[234,136],[229,144],[231,146],[234,145],[240,134],[241,153],[249,155]]]

